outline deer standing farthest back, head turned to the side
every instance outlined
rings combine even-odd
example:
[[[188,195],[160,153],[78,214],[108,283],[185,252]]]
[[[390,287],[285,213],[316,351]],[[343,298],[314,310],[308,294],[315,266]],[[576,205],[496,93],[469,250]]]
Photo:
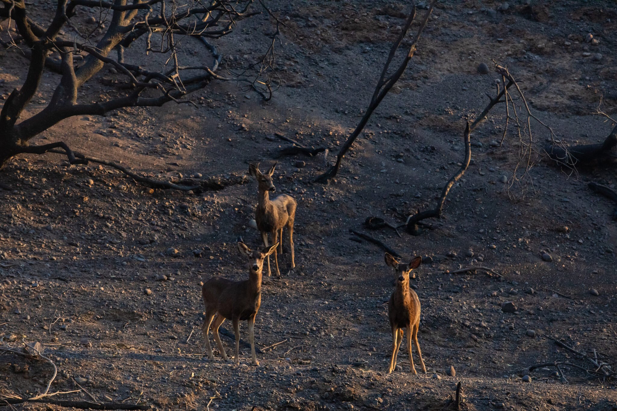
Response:
[[[266,173],[259,171],[257,165],[249,165],[249,175],[257,180],[257,210],[255,222],[257,229],[262,234],[263,245],[268,246],[268,234],[272,237],[272,243],[278,242],[278,252],[283,253],[283,228],[287,227],[289,234],[289,248],[291,250],[291,269],[296,267],[294,262],[294,219],[296,219],[296,200],[287,194],[281,194],[274,200],[270,200],[270,192],[275,191],[272,175],[276,168],[271,166]],[[281,275],[278,270],[278,257],[274,251],[276,275]],[[270,276],[270,257],[268,256],[268,276]]]

